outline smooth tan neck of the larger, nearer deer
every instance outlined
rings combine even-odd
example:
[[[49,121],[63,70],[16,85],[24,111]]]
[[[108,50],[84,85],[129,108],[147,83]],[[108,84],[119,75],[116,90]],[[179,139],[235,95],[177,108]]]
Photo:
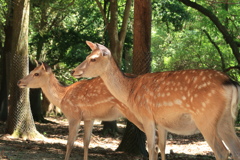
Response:
[[[110,93],[119,101],[127,105],[128,95],[130,93],[131,78],[126,77],[118,68],[113,58],[110,61],[109,67],[101,75],[104,84]]]

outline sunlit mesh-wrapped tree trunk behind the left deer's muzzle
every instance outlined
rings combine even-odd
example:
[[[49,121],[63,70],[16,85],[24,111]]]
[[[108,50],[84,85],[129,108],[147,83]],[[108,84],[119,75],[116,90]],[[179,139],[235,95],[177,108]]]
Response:
[[[29,89],[20,89],[17,82],[28,74],[29,0],[13,0],[10,64],[10,101],[6,132],[24,139],[42,138],[37,132],[29,102]],[[8,35],[6,35],[7,37]]]

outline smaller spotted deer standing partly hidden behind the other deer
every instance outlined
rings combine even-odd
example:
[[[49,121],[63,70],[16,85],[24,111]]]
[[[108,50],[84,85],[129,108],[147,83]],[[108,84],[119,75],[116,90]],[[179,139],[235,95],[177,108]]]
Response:
[[[139,128],[143,128],[135,116],[129,115],[128,109],[110,94],[100,78],[63,86],[47,64],[37,63],[29,75],[18,81],[18,86],[41,88],[49,101],[62,110],[69,123],[65,160],[70,157],[81,121],[84,121],[84,160],[88,159],[88,146],[95,119],[111,121],[125,115]]]

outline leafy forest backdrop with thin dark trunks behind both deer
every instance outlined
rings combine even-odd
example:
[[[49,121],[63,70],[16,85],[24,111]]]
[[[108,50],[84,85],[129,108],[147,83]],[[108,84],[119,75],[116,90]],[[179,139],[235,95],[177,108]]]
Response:
[[[18,2],[0,0],[0,119],[3,121],[9,115],[6,107],[6,99],[11,93],[9,86],[18,80],[11,81],[9,78],[9,73],[15,74],[11,66],[17,62],[9,58],[7,52],[7,35],[13,31],[9,27],[11,6]],[[34,67],[31,66],[33,59],[44,61],[54,69],[62,83],[72,84],[78,80],[70,75],[70,71],[88,55],[89,48],[85,41],[90,40],[109,46],[124,72],[135,72],[132,62],[133,4],[129,0],[114,1],[115,8],[111,4],[113,6],[109,0],[31,1],[29,69]],[[127,7],[129,16],[125,19]],[[147,59],[142,60],[150,63],[150,72],[208,68],[224,71],[239,81],[239,8],[240,2],[237,0],[152,0],[151,48]],[[123,27],[126,21],[127,25]],[[112,28],[113,23],[115,29]],[[125,37],[120,39],[123,31],[126,31]],[[111,35],[117,35],[119,42],[114,42]],[[141,61],[139,65],[142,65]],[[37,95],[41,96],[40,91]],[[44,97],[40,99],[42,101]],[[31,104],[33,117],[41,120],[43,112],[35,106],[42,102],[32,102],[35,102],[35,105]]]

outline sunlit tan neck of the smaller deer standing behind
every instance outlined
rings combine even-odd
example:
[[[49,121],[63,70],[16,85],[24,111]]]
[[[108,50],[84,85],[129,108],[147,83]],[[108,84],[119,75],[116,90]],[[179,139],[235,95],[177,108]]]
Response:
[[[46,85],[42,87],[43,93],[51,103],[61,108],[60,103],[66,93],[67,87],[61,85],[54,74],[51,75],[48,82],[45,82],[45,84]]]

